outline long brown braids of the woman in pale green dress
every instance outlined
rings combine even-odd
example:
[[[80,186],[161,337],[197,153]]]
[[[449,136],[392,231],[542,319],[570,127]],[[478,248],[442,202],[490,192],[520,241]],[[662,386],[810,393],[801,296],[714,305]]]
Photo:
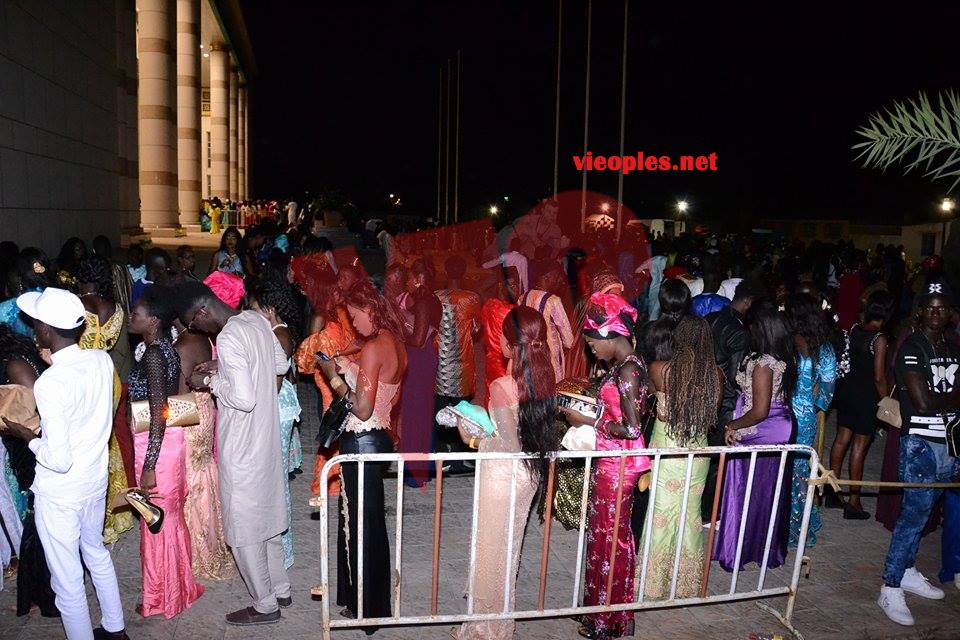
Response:
[[[713,334],[703,318],[686,316],[673,331],[667,366],[667,434],[681,447],[702,441],[717,421],[723,380],[713,355]]]

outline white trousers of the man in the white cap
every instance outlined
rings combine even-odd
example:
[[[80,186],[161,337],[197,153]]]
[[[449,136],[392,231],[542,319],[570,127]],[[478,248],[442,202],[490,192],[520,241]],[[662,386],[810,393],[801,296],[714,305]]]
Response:
[[[84,564],[97,590],[103,614],[101,626],[107,631],[124,628],[117,574],[110,552],[103,546],[105,504],[106,494],[75,504],[53,502],[43,496],[34,498],[37,533],[47,556],[50,586],[57,595],[60,621],[68,640],[93,640],[83,584]]]

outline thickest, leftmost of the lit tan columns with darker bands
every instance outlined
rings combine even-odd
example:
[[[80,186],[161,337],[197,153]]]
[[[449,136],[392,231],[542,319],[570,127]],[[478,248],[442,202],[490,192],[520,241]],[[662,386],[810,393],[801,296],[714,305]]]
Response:
[[[137,21],[140,220],[147,231],[172,229],[178,226],[173,0],[137,0]]]

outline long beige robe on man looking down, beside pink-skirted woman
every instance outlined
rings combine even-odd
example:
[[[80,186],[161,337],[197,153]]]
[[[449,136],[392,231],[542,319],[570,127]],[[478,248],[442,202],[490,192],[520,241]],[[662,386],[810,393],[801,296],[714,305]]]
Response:
[[[241,547],[287,529],[277,376],[289,363],[270,323],[254,311],[227,321],[217,336],[217,359],[219,372],[210,390],[219,411],[223,526],[227,544]]]

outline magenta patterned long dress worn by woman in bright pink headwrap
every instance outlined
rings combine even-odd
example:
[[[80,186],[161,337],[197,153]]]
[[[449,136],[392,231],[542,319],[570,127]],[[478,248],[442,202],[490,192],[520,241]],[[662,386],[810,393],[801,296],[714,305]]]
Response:
[[[597,426],[597,451],[645,448],[640,416],[647,397],[646,380],[647,367],[635,355],[628,356],[604,376],[600,384],[604,416],[603,423]],[[636,401],[627,400],[630,397]],[[621,423],[630,438],[612,434],[609,431],[612,423]],[[583,590],[583,604],[587,607],[633,602],[636,564],[630,527],[633,488],[640,476],[650,470],[650,459],[646,456],[624,458],[622,484],[620,460],[619,457],[597,458],[593,466]],[[616,519],[618,493],[619,520]],[[611,555],[615,555],[613,563]],[[609,590],[608,582],[611,585]],[[589,614],[580,616],[579,621],[595,638],[633,635],[632,611]]]

